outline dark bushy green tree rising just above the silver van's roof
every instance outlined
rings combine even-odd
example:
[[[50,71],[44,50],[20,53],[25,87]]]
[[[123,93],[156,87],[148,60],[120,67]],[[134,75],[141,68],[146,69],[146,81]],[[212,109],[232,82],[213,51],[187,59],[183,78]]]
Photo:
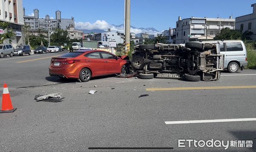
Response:
[[[226,39],[240,39],[244,40],[244,34],[239,30],[232,30],[230,28],[222,28],[220,34],[214,37],[215,40],[226,40]]]

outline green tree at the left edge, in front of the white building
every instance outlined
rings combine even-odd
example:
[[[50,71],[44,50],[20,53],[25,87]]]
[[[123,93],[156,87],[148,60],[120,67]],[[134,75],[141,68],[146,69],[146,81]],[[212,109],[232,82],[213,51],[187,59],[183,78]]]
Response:
[[[9,43],[12,43],[12,40],[16,34],[15,31],[10,27],[10,23],[0,22],[0,27],[7,31],[4,34],[0,34],[0,43],[3,43],[3,41],[7,39],[9,39]]]

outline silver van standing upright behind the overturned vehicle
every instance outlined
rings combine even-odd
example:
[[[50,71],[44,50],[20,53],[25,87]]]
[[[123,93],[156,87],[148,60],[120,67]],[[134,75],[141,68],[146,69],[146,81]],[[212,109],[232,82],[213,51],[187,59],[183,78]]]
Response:
[[[236,73],[247,66],[247,51],[244,42],[241,40],[215,40],[215,41],[200,41],[201,43],[220,43],[221,54],[224,54],[224,68],[230,73]]]

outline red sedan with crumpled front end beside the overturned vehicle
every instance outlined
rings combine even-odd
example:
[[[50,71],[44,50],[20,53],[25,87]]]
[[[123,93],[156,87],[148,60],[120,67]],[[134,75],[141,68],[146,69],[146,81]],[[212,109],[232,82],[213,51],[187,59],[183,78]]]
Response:
[[[99,50],[80,50],[53,57],[49,66],[50,76],[80,79],[87,82],[91,77],[125,73],[128,56],[118,57]]]

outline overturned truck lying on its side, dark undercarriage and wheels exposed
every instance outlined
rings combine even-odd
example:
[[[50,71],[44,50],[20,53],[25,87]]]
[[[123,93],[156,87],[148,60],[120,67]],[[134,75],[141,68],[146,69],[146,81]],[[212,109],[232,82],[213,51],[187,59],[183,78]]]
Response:
[[[224,70],[224,54],[220,54],[218,43],[137,45],[131,65],[141,79],[213,81]]]

